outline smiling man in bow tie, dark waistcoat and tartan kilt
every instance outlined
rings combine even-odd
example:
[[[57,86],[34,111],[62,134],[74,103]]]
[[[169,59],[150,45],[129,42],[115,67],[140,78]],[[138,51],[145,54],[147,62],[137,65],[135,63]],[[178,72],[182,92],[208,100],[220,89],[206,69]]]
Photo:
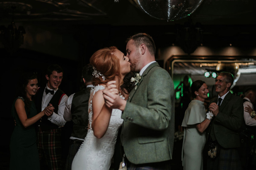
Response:
[[[37,147],[40,165],[41,169],[46,165],[48,170],[61,170],[60,127],[66,123],[63,113],[68,96],[58,88],[63,79],[63,70],[59,65],[50,65],[45,77],[48,82],[45,87],[38,88],[35,104],[38,112],[49,104],[52,104],[54,111],[51,116],[43,116],[39,120]]]

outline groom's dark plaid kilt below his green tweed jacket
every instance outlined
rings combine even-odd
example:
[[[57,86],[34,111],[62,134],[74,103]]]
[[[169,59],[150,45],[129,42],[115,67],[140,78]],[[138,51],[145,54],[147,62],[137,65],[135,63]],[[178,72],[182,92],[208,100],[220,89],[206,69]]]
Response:
[[[170,170],[171,162],[163,161],[163,162],[154,162],[154,163],[143,163],[143,164],[133,164],[128,163],[127,170]]]

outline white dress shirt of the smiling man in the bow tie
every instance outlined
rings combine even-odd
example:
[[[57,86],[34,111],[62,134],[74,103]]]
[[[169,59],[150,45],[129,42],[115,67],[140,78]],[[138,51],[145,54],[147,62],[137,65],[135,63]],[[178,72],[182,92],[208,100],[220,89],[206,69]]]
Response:
[[[50,89],[47,84],[46,87],[48,90],[52,90]],[[54,90],[54,94],[56,93],[58,89]],[[44,90],[44,94],[43,94],[43,98],[42,98],[42,109],[41,111],[43,111],[47,106],[48,103],[50,102],[50,100],[52,99],[53,95],[51,95],[50,93],[46,94],[45,90]],[[64,113],[64,109],[65,109],[65,102],[67,101],[68,96],[67,95],[63,95],[63,97],[60,100],[60,104],[59,104],[59,108],[58,108],[58,114],[56,114],[55,112],[53,112],[52,116],[48,117],[48,120],[50,120],[50,122],[52,122],[53,124],[56,124],[60,127],[63,127],[64,124],[66,123],[66,121],[63,118],[63,113]]]

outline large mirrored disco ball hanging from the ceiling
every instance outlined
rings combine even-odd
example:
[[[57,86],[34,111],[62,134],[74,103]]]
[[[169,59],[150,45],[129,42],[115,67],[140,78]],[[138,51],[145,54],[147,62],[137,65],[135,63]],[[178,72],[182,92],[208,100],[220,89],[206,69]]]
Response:
[[[161,20],[178,20],[191,15],[203,0],[135,0],[151,17]]]

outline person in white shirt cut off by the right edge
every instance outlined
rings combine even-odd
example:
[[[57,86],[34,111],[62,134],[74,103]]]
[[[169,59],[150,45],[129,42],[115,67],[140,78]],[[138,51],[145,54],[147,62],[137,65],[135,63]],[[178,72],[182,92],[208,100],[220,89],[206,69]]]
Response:
[[[250,106],[252,110],[254,110],[252,103],[255,103],[256,100],[256,90],[254,88],[248,88],[245,90],[244,95],[244,121],[240,130],[241,147],[239,149],[239,153],[242,163],[242,169],[247,170],[249,168],[252,168],[252,155],[250,154],[250,152],[254,144],[253,137],[255,136],[256,117],[252,118],[252,116],[245,109],[245,107]]]

